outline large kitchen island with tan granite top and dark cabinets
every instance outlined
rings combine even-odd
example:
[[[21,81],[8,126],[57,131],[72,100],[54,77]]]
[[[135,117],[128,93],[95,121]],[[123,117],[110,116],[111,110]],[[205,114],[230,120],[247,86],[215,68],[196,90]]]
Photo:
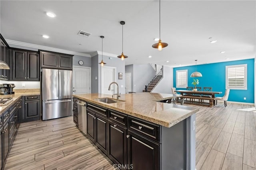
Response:
[[[74,101],[86,101],[87,136],[118,168],[195,169],[199,109],[162,102],[179,95],[130,93],[117,103],[97,100],[111,95],[73,96]]]

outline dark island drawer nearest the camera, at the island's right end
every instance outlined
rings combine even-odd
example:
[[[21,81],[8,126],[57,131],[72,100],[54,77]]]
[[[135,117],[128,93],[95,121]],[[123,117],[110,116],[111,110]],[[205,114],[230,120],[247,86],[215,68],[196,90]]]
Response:
[[[160,125],[128,117],[128,128],[147,138],[160,142]]]

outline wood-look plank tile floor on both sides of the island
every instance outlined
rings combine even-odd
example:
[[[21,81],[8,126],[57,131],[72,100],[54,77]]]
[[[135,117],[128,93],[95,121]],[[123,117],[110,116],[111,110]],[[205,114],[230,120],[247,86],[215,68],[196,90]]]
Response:
[[[218,102],[196,114],[197,170],[256,170],[253,105]],[[112,161],[75,127],[72,117],[20,124],[5,169],[114,169]]]

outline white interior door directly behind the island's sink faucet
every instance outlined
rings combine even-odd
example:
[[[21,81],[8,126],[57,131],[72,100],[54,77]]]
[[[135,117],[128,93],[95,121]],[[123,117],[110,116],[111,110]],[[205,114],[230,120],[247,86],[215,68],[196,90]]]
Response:
[[[101,93],[113,95],[117,93],[116,85],[111,85],[111,90],[108,87],[111,82],[116,81],[116,67],[101,67]]]

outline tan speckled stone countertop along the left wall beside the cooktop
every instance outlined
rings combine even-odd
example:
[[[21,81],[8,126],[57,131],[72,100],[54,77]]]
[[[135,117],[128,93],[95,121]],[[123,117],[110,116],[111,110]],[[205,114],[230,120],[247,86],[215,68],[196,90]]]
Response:
[[[29,95],[40,95],[40,92],[35,92],[35,93],[15,93],[13,95],[0,95],[0,98],[7,98],[7,97],[12,97],[12,101],[8,103],[7,105],[0,106],[0,115],[4,113],[6,110],[9,109],[10,106],[12,106],[14,103],[16,103],[21,96],[29,96]]]

